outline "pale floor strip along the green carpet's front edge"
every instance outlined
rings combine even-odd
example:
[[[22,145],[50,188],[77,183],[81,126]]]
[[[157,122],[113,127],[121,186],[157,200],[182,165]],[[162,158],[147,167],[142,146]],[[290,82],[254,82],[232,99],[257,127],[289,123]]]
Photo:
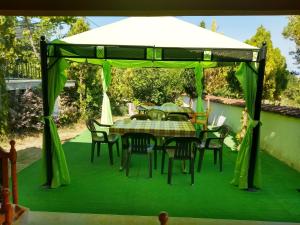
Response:
[[[158,217],[30,212],[28,225],[159,225]],[[168,225],[292,225],[299,223],[201,218],[169,218]]]

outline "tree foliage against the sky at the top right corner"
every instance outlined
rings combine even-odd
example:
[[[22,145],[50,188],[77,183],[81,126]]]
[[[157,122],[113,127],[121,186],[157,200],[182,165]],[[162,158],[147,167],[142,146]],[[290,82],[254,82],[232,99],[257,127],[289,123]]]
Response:
[[[288,25],[284,27],[282,34],[285,38],[295,42],[296,50],[290,54],[294,55],[296,64],[300,68],[300,16],[289,16],[288,19]]]

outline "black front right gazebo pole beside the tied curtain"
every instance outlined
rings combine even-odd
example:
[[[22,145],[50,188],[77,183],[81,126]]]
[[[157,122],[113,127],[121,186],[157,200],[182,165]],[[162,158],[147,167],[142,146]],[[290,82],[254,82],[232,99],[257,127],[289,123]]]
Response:
[[[265,65],[266,65],[266,55],[267,55],[267,46],[266,43],[263,43],[263,46],[260,49],[259,53],[259,67],[258,67],[258,79],[257,79],[257,91],[255,98],[255,108],[254,108],[254,120],[260,121],[260,111],[261,111],[261,100],[263,92],[263,83],[264,83],[264,74],[265,74]],[[248,170],[248,190],[255,190],[254,187],[254,174],[255,174],[255,165],[259,147],[259,135],[260,135],[260,124],[258,124],[253,129],[253,139],[250,153],[250,162]]]

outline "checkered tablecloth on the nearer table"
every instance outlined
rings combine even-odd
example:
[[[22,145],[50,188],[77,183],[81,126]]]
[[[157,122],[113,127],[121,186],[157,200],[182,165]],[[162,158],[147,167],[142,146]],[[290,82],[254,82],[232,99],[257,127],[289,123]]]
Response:
[[[119,120],[109,128],[111,134],[150,133],[157,137],[195,137],[190,121]]]

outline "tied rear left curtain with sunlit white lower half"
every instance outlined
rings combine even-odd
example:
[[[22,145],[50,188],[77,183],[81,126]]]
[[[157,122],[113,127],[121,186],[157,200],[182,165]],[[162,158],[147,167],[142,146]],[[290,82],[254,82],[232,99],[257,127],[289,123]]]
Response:
[[[102,101],[101,123],[107,125],[113,124],[110,101],[107,95],[107,90],[110,83],[111,83],[110,64],[109,62],[104,61],[102,65],[103,101]]]

